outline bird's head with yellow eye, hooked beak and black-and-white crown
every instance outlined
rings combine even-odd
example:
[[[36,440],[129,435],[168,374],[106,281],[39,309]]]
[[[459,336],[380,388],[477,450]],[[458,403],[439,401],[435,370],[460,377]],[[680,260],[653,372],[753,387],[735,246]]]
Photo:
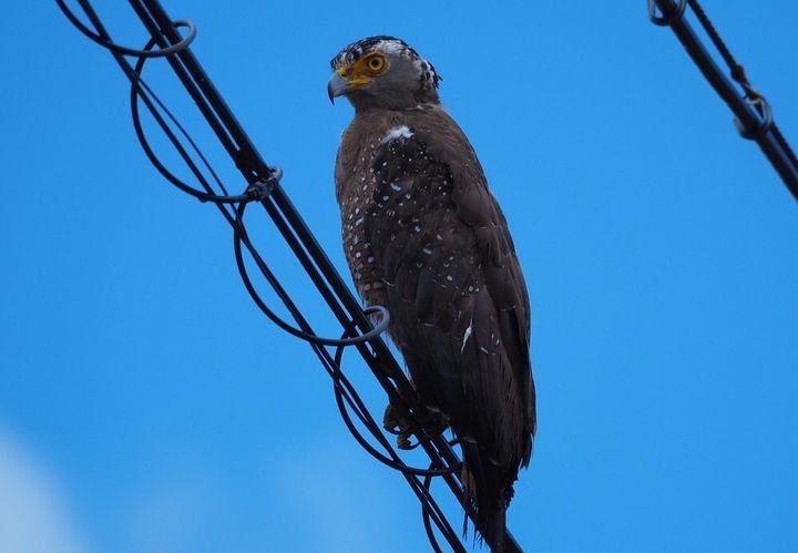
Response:
[[[345,95],[356,110],[401,110],[437,103],[441,78],[405,41],[369,37],[346,47],[330,61],[330,101]]]

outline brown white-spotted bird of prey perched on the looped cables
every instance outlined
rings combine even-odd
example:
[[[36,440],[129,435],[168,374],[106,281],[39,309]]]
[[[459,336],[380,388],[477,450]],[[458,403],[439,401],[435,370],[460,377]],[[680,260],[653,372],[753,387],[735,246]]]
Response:
[[[335,168],[355,285],[390,311],[421,404],[462,444],[467,509],[502,543],[535,432],[529,297],[507,221],[430,62],[369,37],[330,65],[330,100],[355,107]]]

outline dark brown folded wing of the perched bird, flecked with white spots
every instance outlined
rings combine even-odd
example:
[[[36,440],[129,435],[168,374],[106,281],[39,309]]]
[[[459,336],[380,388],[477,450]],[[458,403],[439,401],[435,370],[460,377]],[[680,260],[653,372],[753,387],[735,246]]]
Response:
[[[378,144],[366,222],[391,334],[419,393],[512,483],[535,428],[529,299],[504,216],[440,110]]]

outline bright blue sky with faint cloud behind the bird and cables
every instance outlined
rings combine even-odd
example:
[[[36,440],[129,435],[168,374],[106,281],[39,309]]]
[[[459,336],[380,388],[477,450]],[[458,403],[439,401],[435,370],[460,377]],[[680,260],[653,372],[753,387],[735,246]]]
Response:
[[[703,3],[798,146],[798,7]],[[341,272],[351,107],[329,105],[328,60],[390,33],[442,74],[533,306],[540,432],[509,513],[526,551],[796,551],[798,206],[644,1],[164,4]],[[146,162],[111,57],[53,2],[4,16],[0,550],[427,551],[407,484],[249,300],[222,218]],[[165,65],[147,78],[241,190]],[[250,228],[336,334],[265,217]]]

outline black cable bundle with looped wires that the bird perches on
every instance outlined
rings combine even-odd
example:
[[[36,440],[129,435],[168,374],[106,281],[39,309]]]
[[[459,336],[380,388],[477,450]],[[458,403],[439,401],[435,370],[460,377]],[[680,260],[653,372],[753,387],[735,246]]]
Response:
[[[431,493],[433,478],[441,479],[454,494],[460,504],[464,504],[464,492],[460,482],[461,462],[452,449],[457,442],[443,436],[427,436],[424,420],[418,397],[405,376],[401,367],[380,338],[388,327],[389,313],[381,306],[361,309],[358,300],[335,270],[327,254],[319,246],[290,199],[283,191],[279,178],[282,172],[268,166],[260,157],[252,141],[238,123],[233,112],[209,80],[188,44],[196,35],[196,29],[190,21],[174,21],[168,18],[156,0],[131,0],[131,4],[149,30],[152,39],[144,49],[136,50],[114,43],[105,30],[101,19],[88,0],[78,0],[86,18],[94,27],[92,31],[65,6],[64,0],[55,0],[58,6],[83,34],[95,43],[108,49],[116,63],[131,81],[131,113],[136,136],[145,154],[155,168],[181,191],[202,202],[213,203],[233,228],[236,265],[247,291],[260,310],[276,325],[287,332],[307,341],[319,362],[332,379],[336,404],[344,422],[355,439],[366,451],[383,464],[399,471],[411,490],[419,499],[422,508],[423,525],[432,549],[440,552],[433,525],[446,540],[452,551],[466,552],[458,533],[452,529],[446,514]],[[185,37],[178,28],[186,28]],[[158,47],[157,49],[155,47]],[[135,65],[125,58],[133,57]],[[194,103],[214,131],[215,135],[235,162],[247,182],[244,194],[229,195],[207,158],[192,140],[185,129],[166,109],[153,90],[142,78],[144,64],[153,58],[164,58],[183,83]],[[140,119],[140,103],[152,114],[157,125],[174,145],[180,157],[187,165],[202,190],[195,188],[170,172],[150,146]],[[183,143],[188,144],[186,147]],[[196,158],[200,160],[197,163]],[[207,178],[202,171],[207,171]],[[321,338],[317,336],[301,310],[296,306],[282,283],[272,273],[263,257],[250,242],[244,222],[245,213],[250,204],[259,203],[274,222],[283,239],[306,270],[317,291],[324,298],[342,328],[340,338]],[[280,319],[260,298],[249,278],[245,262],[245,252],[254,260],[258,272],[272,286],[294,318],[296,327]],[[369,316],[378,316],[378,324],[372,326]],[[345,348],[356,349],[366,361],[371,372],[389,397],[391,406],[405,418],[417,438],[415,447],[422,449],[429,457],[429,468],[410,467],[402,461],[390,444],[380,426],[375,421],[357,390],[341,371],[340,365]],[[358,430],[352,420],[355,414],[371,438],[379,444],[376,448]],[[467,514],[471,513],[467,510]],[[521,552],[510,532],[504,539],[504,551]]]

